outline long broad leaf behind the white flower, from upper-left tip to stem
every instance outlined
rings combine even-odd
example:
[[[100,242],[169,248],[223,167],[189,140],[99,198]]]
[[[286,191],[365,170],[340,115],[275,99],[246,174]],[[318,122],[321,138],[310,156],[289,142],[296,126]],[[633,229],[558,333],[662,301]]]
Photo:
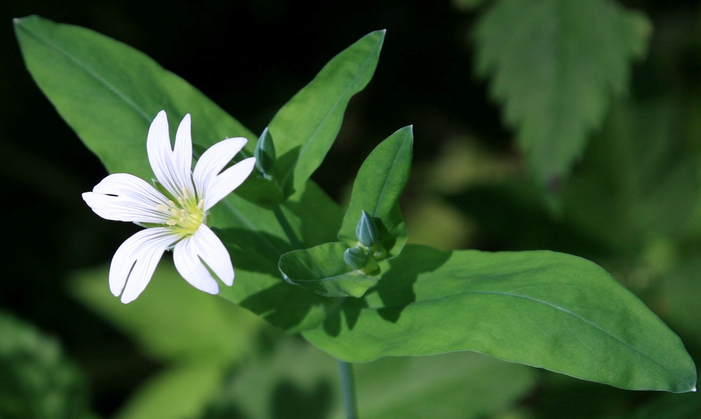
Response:
[[[109,172],[153,176],[146,135],[161,109],[170,116],[172,134],[189,112],[196,145],[243,136],[251,140],[243,155],[252,154],[255,135],[147,55],[89,29],[38,16],[16,19],[15,32],[36,83]],[[221,295],[290,331],[318,324],[324,314],[320,297],[285,284],[278,259],[294,248],[336,240],[342,216],[313,182],[296,189],[274,211],[250,196],[231,194],[211,213],[215,227],[228,237],[236,270],[236,286],[224,287]]]

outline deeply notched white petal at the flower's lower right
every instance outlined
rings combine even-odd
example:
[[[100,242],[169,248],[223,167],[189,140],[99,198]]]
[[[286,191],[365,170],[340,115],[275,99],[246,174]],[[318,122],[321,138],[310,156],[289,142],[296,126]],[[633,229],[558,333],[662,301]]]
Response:
[[[175,245],[173,260],[182,277],[201,291],[219,293],[219,285],[207,266],[224,284],[233,284],[233,266],[229,252],[206,225],[200,225],[195,234]]]

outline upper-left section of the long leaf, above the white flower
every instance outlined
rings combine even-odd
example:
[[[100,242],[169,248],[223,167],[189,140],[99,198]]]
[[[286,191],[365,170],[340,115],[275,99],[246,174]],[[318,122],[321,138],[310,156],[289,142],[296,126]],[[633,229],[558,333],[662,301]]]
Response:
[[[110,173],[154,177],[146,133],[161,109],[168,112],[172,134],[190,113],[193,142],[209,147],[245,137],[250,141],[243,154],[253,155],[256,135],[144,53],[39,16],[15,19],[15,33],[36,84]]]

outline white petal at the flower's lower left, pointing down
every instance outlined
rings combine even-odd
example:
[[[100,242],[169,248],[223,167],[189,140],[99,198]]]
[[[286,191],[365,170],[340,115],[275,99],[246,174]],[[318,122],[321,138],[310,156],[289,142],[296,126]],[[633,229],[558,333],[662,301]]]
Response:
[[[109,266],[109,289],[131,302],[146,288],[165,249],[178,239],[165,227],[137,232],[119,246]]]

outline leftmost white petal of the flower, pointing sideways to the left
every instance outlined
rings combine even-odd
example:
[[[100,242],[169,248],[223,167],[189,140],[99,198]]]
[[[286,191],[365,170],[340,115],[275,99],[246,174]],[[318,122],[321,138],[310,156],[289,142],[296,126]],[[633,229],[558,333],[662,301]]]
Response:
[[[145,180],[128,173],[114,173],[85,192],[83,199],[93,211],[107,220],[165,223],[168,213],[156,206],[168,199]]]

